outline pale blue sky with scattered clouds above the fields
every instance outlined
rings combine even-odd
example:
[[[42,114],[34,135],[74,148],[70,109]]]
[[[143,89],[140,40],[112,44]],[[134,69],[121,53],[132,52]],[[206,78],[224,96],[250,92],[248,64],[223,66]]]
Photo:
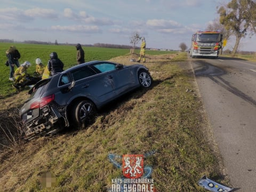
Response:
[[[1,0],[0,39],[130,45],[134,32],[147,47],[190,46],[191,35],[218,17],[221,0]],[[231,42],[227,48],[232,49]],[[242,39],[241,50],[256,51]]]

